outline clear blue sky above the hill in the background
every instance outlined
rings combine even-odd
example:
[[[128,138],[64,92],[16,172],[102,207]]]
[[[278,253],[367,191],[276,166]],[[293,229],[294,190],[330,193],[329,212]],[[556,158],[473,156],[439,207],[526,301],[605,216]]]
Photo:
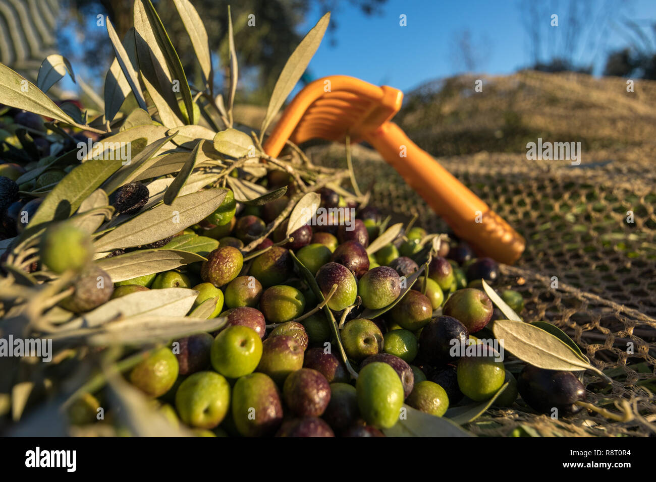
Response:
[[[579,16],[581,25],[575,27],[565,8],[569,2],[533,1],[558,14],[555,28],[550,26],[550,16],[543,18],[544,56],[561,51],[567,29],[575,28],[585,40],[574,59],[588,64],[593,61],[595,73],[602,71],[612,47],[626,45],[621,35],[626,30],[620,23],[623,18],[636,20],[645,30],[656,22],[656,0],[592,0],[593,15]],[[314,78],[353,75],[407,91],[424,81],[466,70],[453,56],[453,37],[468,29],[474,56],[480,60],[474,70],[511,73],[532,60],[519,4],[518,0],[388,0],[382,15],[366,16],[344,1],[335,12],[337,45],[331,47],[329,37],[325,37],[310,63],[310,72]],[[314,9],[303,30],[312,28],[321,13]],[[400,14],[407,16],[407,27],[399,26]],[[596,37],[595,32],[601,35]],[[649,35],[655,39],[651,31]]]

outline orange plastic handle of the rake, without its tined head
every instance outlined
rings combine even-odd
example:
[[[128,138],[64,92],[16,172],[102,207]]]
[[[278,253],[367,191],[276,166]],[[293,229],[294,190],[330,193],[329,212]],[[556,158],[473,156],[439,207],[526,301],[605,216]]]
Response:
[[[383,123],[365,138],[477,254],[506,264],[521,256],[526,243],[523,237],[398,125]],[[400,156],[401,146],[407,157]],[[482,222],[476,222],[477,218]]]

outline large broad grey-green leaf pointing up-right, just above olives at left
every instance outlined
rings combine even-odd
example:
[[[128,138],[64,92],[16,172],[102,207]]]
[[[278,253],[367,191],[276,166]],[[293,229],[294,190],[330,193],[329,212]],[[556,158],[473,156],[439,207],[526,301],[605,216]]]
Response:
[[[147,245],[173,236],[216,211],[226,192],[209,189],[177,197],[170,206],[155,206],[98,239],[96,252]]]

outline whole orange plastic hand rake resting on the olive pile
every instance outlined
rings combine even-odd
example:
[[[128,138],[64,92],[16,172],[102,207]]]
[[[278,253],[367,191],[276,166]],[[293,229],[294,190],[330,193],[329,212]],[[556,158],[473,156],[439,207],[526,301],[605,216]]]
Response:
[[[318,79],[287,106],[264,151],[276,157],[287,139],[295,144],[313,138],[344,142],[348,134],[351,142],[365,140],[480,256],[515,262],[524,250],[523,237],[390,122],[401,100],[398,89],[348,75]]]

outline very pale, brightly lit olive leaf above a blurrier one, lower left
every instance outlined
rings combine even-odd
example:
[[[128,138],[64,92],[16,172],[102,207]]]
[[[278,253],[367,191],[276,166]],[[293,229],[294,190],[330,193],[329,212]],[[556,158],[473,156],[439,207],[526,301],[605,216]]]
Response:
[[[100,327],[121,317],[184,316],[194,305],[197,296],[197,291],[187,288],[163,288],[126,294],[73,319],[66,324],[66,331],[53,335],[53,340],[70,337],[75,334],[76,329]]]

